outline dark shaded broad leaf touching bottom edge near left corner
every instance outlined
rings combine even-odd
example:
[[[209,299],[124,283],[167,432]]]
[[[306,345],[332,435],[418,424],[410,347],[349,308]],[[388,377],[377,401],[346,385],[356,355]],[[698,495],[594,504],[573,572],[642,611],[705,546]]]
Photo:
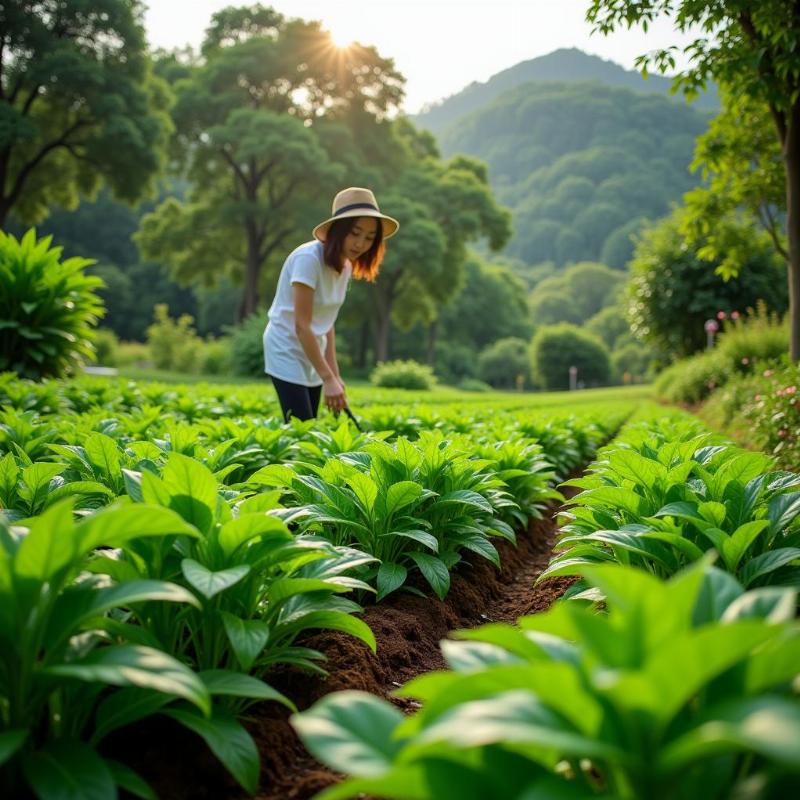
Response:
[[[22,766],[42,800],[109,800],[117,796],[111,770],[83,742],[49,742],[27,754]]]

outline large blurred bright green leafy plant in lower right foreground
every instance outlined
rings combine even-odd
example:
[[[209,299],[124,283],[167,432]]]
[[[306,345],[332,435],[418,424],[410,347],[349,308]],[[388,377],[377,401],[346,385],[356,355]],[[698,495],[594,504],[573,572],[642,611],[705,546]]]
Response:
[[[796,785],[794,592],[743,592],[705,563],[669,582],[622,565],[582,575],[607,613],[562,600],[518,627],[462,631],[443,643],[451,672],[398,690],[421,705],[411,717],[360,692],[293,717],[353,776],[320,800],[721,800]]]

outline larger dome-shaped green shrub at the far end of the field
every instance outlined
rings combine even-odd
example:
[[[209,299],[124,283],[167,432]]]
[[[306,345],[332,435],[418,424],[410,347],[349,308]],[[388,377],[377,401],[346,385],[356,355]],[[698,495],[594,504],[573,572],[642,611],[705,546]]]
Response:
[[[573,366],[578,369],[579,385],[608,382],[608,350],[597,337],[567,322],[540,328],[531,342],[531,367],[537,382],[546,389],[567,389]]]

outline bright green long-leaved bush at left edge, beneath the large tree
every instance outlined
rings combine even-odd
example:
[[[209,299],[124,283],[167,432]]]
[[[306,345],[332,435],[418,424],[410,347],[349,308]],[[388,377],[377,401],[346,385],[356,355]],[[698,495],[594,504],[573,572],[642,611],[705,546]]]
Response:
[[[92,360],[93,327],[103,316],[85,258],[61,261],[50,236],[29,230],[18,240],[0,231],[0,372],[39,380]]]

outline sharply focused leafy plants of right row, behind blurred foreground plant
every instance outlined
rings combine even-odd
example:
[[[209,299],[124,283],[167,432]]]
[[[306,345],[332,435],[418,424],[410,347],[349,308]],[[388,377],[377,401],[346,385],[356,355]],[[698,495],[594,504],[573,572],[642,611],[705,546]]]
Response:
[[[668,577],[704,552],[745,586],[800,575],[800,476],[704,433],[693,422],[631,430],[606,448],[569,501],[540,580],[587,563],[618,560]]]

